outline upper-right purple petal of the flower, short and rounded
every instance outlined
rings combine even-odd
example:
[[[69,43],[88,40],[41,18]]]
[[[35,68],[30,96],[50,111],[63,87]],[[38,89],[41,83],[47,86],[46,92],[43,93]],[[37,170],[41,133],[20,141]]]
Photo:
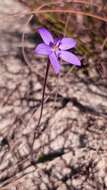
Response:
[[[76,41],[74,39],[62,38],[59,48],[61,50],[67,50],[67,49],[74,48],[75,46],[76,46]]]

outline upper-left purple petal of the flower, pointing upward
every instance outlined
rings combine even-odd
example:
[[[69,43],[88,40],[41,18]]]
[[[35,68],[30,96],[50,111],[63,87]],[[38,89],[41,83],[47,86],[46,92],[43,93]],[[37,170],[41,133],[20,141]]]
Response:
[[[54,42],[54,39],[53,39],[51,33],[47,29],[45,29],[45,28],[39,28],[38,32],[39,32],[42,40],[45,42],[45,44],[49,45],[50,42],[51,43]]]

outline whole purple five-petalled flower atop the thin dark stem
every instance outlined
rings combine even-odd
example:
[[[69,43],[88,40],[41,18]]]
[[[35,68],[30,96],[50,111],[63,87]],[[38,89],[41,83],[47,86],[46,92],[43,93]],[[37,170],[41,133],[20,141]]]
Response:
[[[34,51],[36,54],[48,56],[56,74],[60,72],[59,58],[73,65],[81,65],[79,58],[67,51],[76,46],[76,41],[74,39],[66,37],[54,39],[51,33],[45,28],[39,28],[38,33],[44,43],[40,43]]]

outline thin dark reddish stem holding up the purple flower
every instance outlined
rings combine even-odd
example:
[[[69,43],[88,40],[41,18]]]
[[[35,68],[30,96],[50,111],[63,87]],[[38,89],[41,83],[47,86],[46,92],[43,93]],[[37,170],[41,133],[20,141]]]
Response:
[[[47,78],[48,78],[49,66],[50,66],[50,61],[48,60],[47,68],[46,68],[46,73],[45,73],[44,84],[43,84],[40,116],[39,116],[38,123],[37,123],[37,125],[36,125],[37,127],[34,129],[34,135],[33,135],[33,140],[32,140],[32,145],[31,145],[31,157],[32,157],[32,158],[33,158],[33,145],[34,145],[34,140],[35,140],[37,128],[39,128],[39,126],[40,126],[40,122],[41,122],[42,114],[43,114],[45,89],[46,89],[46,82],[47,82]],[[31,158],[31,159],[32,159],[32,158]]]

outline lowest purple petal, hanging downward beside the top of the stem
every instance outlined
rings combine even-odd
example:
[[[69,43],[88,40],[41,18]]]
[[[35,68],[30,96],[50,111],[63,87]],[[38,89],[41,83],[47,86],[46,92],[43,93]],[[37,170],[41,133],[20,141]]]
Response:
[[[49,55],[49,59],[50,59],[50,62],[52,64],[52,67],[53,67],[55,73],[58,74],[60,72],[60,64],[58,63],[58,59],[57,59],[55,53],[51,53]]]

